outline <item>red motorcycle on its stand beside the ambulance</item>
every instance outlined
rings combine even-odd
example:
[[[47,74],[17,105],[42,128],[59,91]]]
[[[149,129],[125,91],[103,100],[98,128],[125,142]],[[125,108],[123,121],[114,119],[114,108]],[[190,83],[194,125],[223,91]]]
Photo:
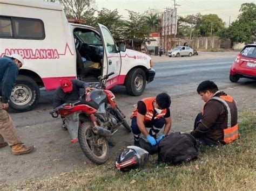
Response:
[[[131,132],[114,94],[105,89],[105,82],[112,74],[99,76],[99,83],[92,85],[95,90],[83,94],[79,101],[62,104],[50,112],[52,117],[64,117],[71,143],[79,142],[86,157],[96,164],[106,162],[109,157],[107,138],[121,125]]]

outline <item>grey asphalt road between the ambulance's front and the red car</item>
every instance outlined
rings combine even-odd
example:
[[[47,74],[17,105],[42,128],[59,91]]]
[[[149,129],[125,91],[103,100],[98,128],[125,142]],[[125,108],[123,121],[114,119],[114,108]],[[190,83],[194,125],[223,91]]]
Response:
[[[156,79],[147,89],[156,88],[157,91],[170,90],[172,96],[193,93],[198,83],[213,80],[221,87],[232,86],[229,71],[234,58],[218,58],[203,60],[174,60],[170,62],[156,62]],[[244,80],[241,80],[241,82]],[[245,80],[246,81],[246,80]],[[159,86],[160,85],[160,86]]]

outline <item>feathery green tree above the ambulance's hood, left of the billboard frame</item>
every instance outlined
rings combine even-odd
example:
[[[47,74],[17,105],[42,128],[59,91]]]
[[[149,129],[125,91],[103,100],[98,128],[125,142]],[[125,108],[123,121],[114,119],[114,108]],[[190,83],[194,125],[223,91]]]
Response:
[[[149,37],[150,27],[147,25],[144,14],[129,11],[129,20],[126,21],[125,36],[126,38],[145,39]]]

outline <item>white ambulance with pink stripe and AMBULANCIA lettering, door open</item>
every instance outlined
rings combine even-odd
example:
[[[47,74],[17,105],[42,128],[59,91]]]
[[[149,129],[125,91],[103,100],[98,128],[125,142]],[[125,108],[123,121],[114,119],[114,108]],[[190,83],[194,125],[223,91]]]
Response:
[[[105,26],[69,23],[60,4],[39,0],[0,0],[0,56],[13,53],[25,60],[10,97],[16,111],[35,107],[39,88],[54,90],[63,78],[95,83],[114,72],[107,89],[138,96],[155,75],[150,56],[117,47]]]

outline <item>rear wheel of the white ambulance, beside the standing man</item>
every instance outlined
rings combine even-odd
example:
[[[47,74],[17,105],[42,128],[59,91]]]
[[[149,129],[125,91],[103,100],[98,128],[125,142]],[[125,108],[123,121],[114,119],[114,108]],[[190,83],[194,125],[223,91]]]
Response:
[[[19,75],[12,88],[9,105],[15,112],[29,111],[36,106],[39,97],[40,90],[36,82],[28,76]]]

